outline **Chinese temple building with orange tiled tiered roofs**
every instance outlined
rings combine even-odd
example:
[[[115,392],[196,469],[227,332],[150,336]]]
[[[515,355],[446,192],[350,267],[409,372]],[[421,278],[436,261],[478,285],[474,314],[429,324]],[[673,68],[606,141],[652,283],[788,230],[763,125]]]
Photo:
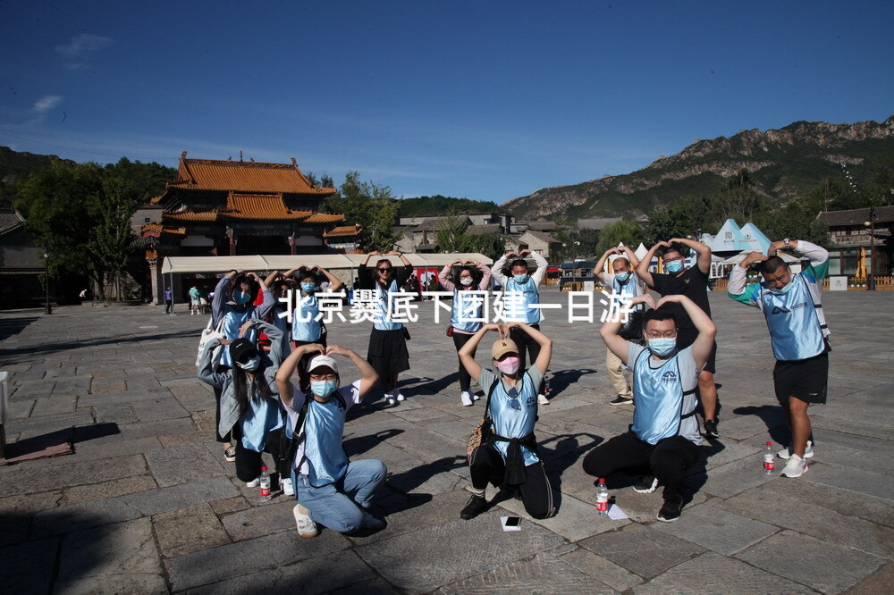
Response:
[[[294,158],[291,163],[187,159],[184,151],[177,178],[132,220],[146,241],[156,301],[164,289],[158,272],[165,256],[350,251],[346,248],[356,247],[360,228],[336,226],[343,214],[318,212],[333,194],[335,189],[308,180]]]

